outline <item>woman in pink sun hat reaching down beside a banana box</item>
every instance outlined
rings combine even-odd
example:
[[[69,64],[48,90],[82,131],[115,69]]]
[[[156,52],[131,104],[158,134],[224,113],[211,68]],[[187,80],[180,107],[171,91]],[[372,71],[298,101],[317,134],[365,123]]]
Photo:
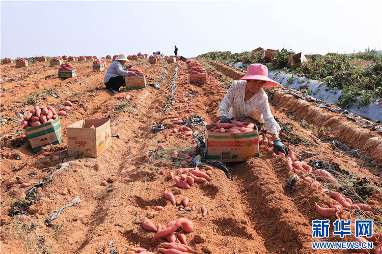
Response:
[[[278,151],[289,154],[289,148],[279,139],[280,125],[269,108],[268,96],[263,86],[277,86],[277,82],[268,78],[268,68],[261,63],[253,63],[247,74],[235,80],[223,98],[217,113],[220,122],[231,123],[232,119],[250,120],[257,128],[265,129],[272,136],[276,154]],[[245,119],[243,119],[245,118]]]

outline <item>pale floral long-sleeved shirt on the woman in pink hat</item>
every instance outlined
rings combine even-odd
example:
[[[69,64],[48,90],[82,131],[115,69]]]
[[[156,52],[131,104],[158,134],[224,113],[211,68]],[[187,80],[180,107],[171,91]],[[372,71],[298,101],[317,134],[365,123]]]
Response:
[[[268,96],[261,88],[248,101],[244,101],[247,80],[235,80],[223,98],[217,113],[228,118],[251,117],[260,123],[263,128],[272,134],[279,134],[281,128],[269,108]]]

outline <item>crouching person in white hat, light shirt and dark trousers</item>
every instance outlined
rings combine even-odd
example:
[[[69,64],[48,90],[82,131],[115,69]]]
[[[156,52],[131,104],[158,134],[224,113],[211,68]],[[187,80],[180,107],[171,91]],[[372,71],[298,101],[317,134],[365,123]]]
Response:
[[[116,60],[107,68],[103,83],[113,93],[118,93],[119,88],[126,84],[125,77],[128,74],[135,76],[135,72],[129,72],[127,69],[131,68],[131,65],[123,68],[123,65],[129,62],[126,54],[119,54]],[[123,68],[123,69],[122,69]]]

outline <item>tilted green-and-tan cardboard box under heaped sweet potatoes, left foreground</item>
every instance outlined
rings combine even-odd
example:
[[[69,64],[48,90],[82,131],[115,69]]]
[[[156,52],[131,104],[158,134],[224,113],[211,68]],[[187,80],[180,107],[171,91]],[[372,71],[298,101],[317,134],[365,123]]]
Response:
[[[28,138],[33,152],[40,151],[41,147],[45,145],[61,144],[62,133],[60,117],[51,122],[25,129],[25,136]]]

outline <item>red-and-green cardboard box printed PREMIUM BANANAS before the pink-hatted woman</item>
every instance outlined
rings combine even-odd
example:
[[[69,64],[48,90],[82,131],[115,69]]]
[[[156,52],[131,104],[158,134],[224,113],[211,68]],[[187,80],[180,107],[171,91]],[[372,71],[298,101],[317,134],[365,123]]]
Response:
[[[243,162],[249,156],[259,157],[259,132],[211,133],[214,125],[205,126],[207,159],[220,162]],[[243,150],[245,151],[243,152]]]

